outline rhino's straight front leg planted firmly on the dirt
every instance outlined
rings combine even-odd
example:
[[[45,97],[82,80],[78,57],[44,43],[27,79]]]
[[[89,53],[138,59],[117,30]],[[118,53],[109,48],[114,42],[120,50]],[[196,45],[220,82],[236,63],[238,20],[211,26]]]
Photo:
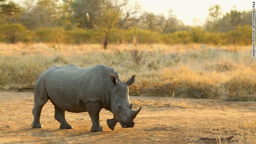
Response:
[[[86,109],[92,120],[91,132],[103,132],[104,128],[100,126],[100,102],[88,102]]]

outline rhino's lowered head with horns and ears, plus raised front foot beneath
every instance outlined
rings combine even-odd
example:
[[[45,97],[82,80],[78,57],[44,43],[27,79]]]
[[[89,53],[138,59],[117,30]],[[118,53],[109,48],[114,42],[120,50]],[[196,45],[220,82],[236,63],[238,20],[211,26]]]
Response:
[[[134,81],[135,75],[132,75],[129,80],[123,82],[116,78],[115,75],[110,74],[110,82],[114,85],[110,100],[110,107],[114,118],[108,119],[107,124],[111,130],[114,130],[117,122],[121,124],[122,128],[133,128],[135,124],[134,118],[140,112],[141,107],[138,110],[133,110],[132,103],[129,100],[128,86],[132,85]]]

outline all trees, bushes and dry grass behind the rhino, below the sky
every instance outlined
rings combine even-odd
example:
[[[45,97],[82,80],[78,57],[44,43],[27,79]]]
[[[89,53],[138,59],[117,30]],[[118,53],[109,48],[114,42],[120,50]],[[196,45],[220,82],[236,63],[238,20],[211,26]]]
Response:
[[[128,0],[0,0],[0,89],[32,88],[52,65],[112,66],[132,95],[256,101],[252,11],[209,8],[203,26]]]

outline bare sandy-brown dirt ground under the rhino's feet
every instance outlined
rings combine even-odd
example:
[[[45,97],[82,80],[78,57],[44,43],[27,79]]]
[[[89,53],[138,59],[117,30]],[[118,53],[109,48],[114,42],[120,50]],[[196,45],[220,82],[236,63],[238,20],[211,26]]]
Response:
[[[43,128],[32,128],[33,92],[0,92],[0,143],[254,143],[256,131],[256,102],[221,102],[217,100],[185,99],[187,106],[158,106],[165,98],[133,97],[140,101],[142,110],[135,118],[134,128],[122,128],[118,123],[114,131],[106,124],[113,115],[107,110],[100,113],[104,132],[90,132],[91,120],[87,112],[66,112],[73,129],[60,129],[54,119],[54,106],[50,101],[42,110]],[[176,99],[178,101],[178,99]],[[149,104],[150,103],[150,104]],[[154,106],[155,103],[155,106]],[[138,109],[138,104],[134,109]],[[232,140],[200,140],[201,137]]]

